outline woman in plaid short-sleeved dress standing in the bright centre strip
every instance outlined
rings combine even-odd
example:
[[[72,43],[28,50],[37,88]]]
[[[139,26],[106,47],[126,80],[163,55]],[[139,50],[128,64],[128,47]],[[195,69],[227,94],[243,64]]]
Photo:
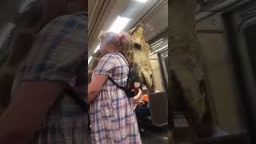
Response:
[[[90,126],[94,143],[142,143],[132,103],[119,86],[125,86],[129,67],[122,55],[126,35],[100,34],[102,58],[88,86]]]

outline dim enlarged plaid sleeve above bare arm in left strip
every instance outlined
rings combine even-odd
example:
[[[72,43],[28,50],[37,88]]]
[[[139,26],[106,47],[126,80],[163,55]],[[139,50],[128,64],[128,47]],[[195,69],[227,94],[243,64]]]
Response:
[[[76,70],[86,51],[84,18],[62,16],[38,34],[22,72],[22,81],[50,80],[75,85]]]

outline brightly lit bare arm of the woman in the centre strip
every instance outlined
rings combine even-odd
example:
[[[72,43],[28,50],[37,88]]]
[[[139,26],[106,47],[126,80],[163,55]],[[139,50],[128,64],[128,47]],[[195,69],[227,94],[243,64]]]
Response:
[[[96,75],[92,82],[88,86],[88,102],[93,102],[96,98],[98,92],[102,90],[102,86],[106,79],[109,78],[108,75]]]

